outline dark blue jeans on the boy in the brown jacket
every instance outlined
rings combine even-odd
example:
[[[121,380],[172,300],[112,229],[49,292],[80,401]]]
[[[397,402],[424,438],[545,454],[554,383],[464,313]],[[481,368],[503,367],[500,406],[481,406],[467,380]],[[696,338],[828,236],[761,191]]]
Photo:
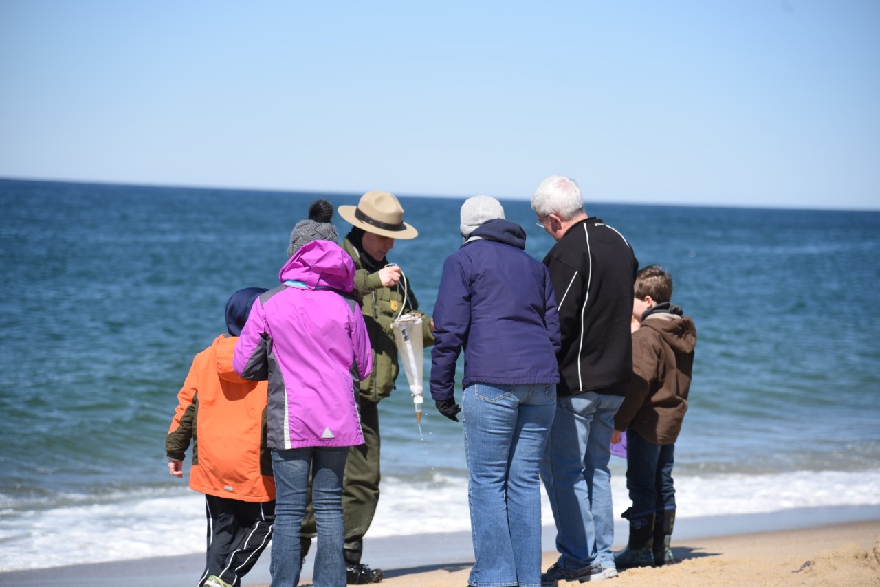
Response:
[[[627,489],[634,516],[675,510],[674,464],[675,444],[649,443],[627,430]]]

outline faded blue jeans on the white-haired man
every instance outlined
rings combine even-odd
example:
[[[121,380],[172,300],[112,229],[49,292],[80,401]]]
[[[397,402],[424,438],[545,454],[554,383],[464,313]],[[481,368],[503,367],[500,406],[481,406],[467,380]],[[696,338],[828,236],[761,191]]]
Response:
[[[620,396],[595,392],[556,402],[541,478],[556,522],[557,563],[563,569],[583,569],[597,562],[614,566],[608,459],[614,415],[622,402]]]

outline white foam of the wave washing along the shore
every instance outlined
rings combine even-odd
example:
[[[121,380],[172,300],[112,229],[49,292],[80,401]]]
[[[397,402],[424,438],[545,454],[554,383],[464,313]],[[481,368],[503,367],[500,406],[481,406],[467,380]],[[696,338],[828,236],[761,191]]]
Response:
[[[626,481],[619,468],[612,466],[615,518],[628,505]],[[676,488],[679,517],[880,505],[880,469],[680,477]],[[550,525],[553,515],[546,495],[542,501],[542,519]],[[4,510],[0,512],[0,571],[200,553],[205,541],[203,511],[202,495],[186,489],[155,498],[24,514]],[[369,535],[469,529],[467,480],[436,473],[433,479],[418,483],[386,477]]]

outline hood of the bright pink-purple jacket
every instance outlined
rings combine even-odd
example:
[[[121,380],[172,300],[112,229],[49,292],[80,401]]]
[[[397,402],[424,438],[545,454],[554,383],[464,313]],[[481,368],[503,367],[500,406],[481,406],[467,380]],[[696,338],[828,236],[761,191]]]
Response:
[[[355,289],[355,263],[342,247],[329,240],[313,240],[294,253],[281,271],[281,282],[302,282],[310,290]]]

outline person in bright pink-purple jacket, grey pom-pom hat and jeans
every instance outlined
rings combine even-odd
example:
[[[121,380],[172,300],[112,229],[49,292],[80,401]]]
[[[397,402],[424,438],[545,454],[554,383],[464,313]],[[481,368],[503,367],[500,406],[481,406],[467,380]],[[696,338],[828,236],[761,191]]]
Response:
[[[332,240],[294,246],[300,229],[333,229],[329,219],[312,215],[297,224],[292,256],[279,273],[282,285],[253,303],[233,360],[243,378],[268,379],[267,444],[277,491],[270,587],[299,582],[310,469],[319,535],[313,582],[315,587],[346,584],[342,474],[348,447],[363,444],[358,382],[370,374],[372,354],[363,316],[350,295],[355,265],[348,253]]]

